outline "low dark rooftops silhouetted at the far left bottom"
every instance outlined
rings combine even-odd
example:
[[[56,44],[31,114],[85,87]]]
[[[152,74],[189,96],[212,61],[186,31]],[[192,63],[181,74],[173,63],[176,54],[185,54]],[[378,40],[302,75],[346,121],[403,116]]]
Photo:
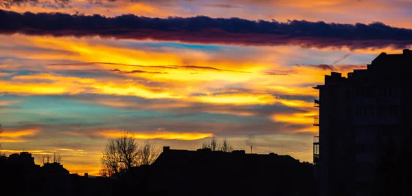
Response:
[[[115,195],[115,182],[70,174],[62,164],[34,163],[31,153],[0,156],[0,195]]]

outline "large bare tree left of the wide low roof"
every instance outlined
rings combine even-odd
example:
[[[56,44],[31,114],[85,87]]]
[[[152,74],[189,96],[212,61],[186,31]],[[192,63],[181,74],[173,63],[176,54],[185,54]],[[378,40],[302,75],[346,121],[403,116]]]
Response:
[[[135,135],[124,131],[121,137],[108,140],[104,146],[100,175],[109,177],[133,166],[152,164],[159,152],[155,143],[147,140],[143,145],[137,144]]]

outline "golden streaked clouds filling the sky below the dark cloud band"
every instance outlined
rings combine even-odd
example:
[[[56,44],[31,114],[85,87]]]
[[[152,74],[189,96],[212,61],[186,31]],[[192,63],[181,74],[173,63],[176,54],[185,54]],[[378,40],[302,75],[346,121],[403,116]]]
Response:
[[[401,52],[0,36],[1,72],[13,73],[0,76],[0,105],[22,108],[1,109],[0,123],[44,124],[34,135],[1,135],[0,143],[9,153],[60,153],[71,173],[97,174],[104,143],[123,129],[175,149],[198,149],[214,135],[257,153],[279,153],[288,142],[295,146],[285,153],[311,161],[304,150],[319,129],[312,87],[386,50]]]

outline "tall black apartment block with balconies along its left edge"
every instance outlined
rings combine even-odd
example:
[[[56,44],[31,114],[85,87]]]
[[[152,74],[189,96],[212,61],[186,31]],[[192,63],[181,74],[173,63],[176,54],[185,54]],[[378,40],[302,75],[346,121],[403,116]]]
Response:
[[[367,69],[332,72],[318,85],[319,136],[314,166],[321,196],[375,195],[378,164],[389,140],[412,132],[412,51],[381,53]],[[321,147],[321,151],[319,151]]]

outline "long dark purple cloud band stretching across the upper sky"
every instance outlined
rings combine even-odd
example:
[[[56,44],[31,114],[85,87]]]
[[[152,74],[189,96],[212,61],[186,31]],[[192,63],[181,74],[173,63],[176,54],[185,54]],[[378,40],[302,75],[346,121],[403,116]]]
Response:
[[[0,34],[42,36],[100,36],[101,38],[180,41],[229,45],[299,45],[301,47],[349,47],[350,49],[404,48],[412,44],[412,30],[384,23],[341,24],[323,21],[249,21],[209,17],[108,18],[62,13],[0,10]]]

